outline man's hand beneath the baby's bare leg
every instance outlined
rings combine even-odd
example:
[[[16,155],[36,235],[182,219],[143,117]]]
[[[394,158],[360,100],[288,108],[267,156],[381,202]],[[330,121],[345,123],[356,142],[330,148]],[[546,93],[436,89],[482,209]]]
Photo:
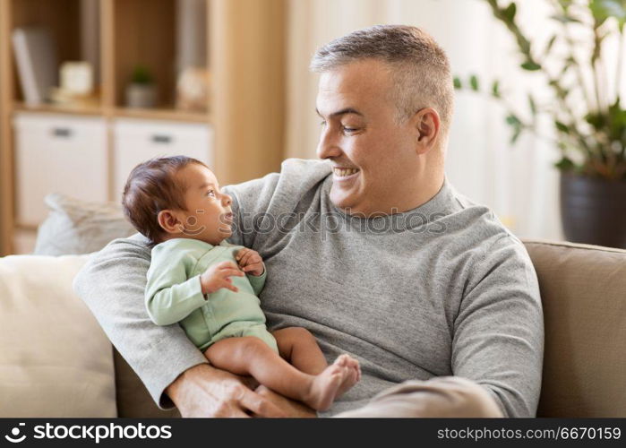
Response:
[[[207,364],[193,366],[171,383],[166,393],[184,418],[189,417],[287,417],[244,380]]]

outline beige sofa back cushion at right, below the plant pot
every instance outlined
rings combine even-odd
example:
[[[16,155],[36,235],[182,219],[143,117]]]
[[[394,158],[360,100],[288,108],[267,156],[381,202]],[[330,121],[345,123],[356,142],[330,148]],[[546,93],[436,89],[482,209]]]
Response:
[[[626,251],[525,241],[544,305],[538,417],[626,417]]]

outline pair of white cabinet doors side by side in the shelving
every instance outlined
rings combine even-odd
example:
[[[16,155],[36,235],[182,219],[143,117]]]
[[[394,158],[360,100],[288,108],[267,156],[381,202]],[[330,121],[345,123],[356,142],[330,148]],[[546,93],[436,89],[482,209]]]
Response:
[[[112,190],[119,202],[131,170],[153,157],[185,155],[213,163],[210,125],[32,112],[16,114],[13,125],[19,226],[38,226],[46,218],[49,193],[105,202]]]

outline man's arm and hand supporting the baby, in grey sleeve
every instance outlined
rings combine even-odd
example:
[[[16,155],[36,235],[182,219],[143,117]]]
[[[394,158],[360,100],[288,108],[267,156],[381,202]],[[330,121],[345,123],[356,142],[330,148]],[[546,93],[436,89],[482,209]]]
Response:
[[[236,375],[210,367],[179,325],[150,322],[144,306],[149,267],[145,238],[117,239],[90,258],[74,289],[159,407],[172,407],[173,400],[184,417],[284,415]]]

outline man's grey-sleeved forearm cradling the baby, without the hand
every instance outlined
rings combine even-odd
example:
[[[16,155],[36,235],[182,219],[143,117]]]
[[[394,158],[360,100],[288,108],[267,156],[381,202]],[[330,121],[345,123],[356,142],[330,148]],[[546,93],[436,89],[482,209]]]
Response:
[[[172,403],[167,386],[206,358],[179,325],[159,327],[144,305],[150,249],[138,237],[116,240],[91,257],[74,280],[116,349],[139,375],[161,407]]]

